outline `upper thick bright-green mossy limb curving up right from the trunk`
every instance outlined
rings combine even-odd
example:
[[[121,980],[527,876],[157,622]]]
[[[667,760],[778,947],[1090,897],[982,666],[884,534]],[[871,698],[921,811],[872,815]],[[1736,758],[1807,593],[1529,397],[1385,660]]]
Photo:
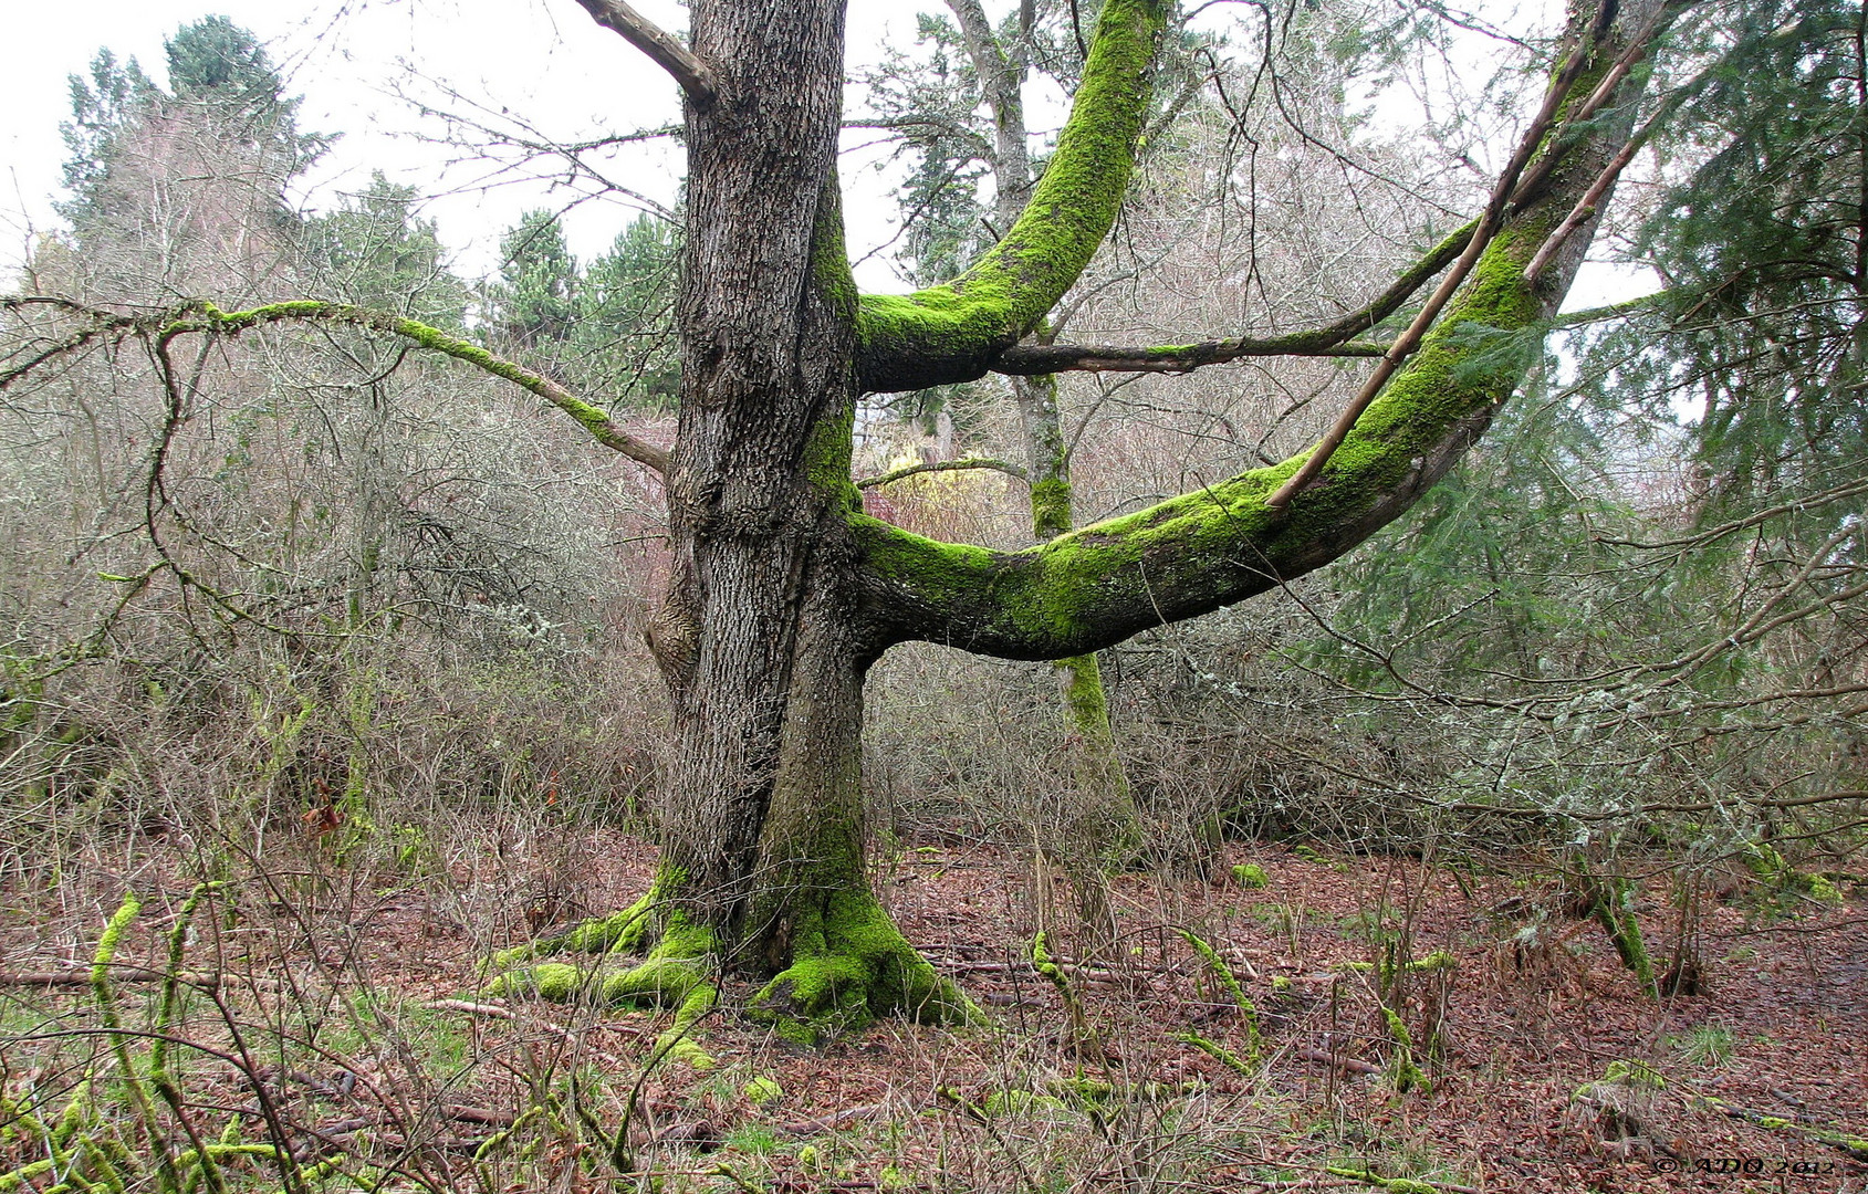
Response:
[[[1057,153],[1005,239],[953,282],[861,297],[857,374],[865,391],[979,377],[1070,290],[1128,191],[1149,108],[1149,67],[1166,21],[1160,0],[1108,0]]]

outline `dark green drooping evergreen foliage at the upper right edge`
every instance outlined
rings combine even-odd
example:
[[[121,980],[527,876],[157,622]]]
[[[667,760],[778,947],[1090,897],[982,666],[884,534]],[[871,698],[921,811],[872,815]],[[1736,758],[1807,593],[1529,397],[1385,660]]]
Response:
[[[1621,389],[1691,422],[1730,518],[1868,462],[1868,84],[1862,11],[1840,0],[1720,6],[1698,26],[1705,65],[1668,131],[1687,166],[1634,256],[1668,288],[1605,336]],[[1606,402],[1612,391],[1595,387]]]

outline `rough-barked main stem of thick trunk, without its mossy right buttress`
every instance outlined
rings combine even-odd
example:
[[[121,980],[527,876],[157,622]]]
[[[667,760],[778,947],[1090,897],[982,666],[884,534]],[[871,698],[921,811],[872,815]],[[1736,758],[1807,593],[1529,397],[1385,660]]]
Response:
[[[852,297],[814,269],[842,252],[831,172],[842,4],[697,4],[693,49],[714,64],[719,97],[687,114],[674,566],[650,643],[676,725],[669,895],[736,936],[796,732],[794,680],[826,667],[813,656],[854,654],[848,630],[822,624],[841,617],[826,544],[841,493],[824,471],[848,469],[835,424],[854,402]]]

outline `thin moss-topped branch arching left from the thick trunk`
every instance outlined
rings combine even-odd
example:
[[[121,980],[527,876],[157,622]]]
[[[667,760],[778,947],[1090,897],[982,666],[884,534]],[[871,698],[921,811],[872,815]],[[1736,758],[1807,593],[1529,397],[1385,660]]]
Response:
[[[304,299],[293,303],[269,303],[265,306],[254,306],[252,310],[226,312],[213,303],[194,301],[164,312],[123,316],[110,310],[84,306],[82,303],[50,297],[0,299],[0,305],[4,305],[6,310],[50,306],[84,320],[84,325],[78,331],[49,344],[37,353],[32,353],[21,364],[0,372],[0,389],[101,340],[127,340],[138,334],[172,340],[174,336],[189,333],[234,336],[252,327],[291,321],[347,323],[351,327],[364,327],[383,334],[402,336],[420,348],[445,357],[454,357],[456,361],[465,361],[467,364],[473,364],[495,377],[510,381],[575,419],[579,426],[583,426],[583,430],[605,448],[622,452],[637,463],[648,465],[656,471],[665,471],[669,462],[665,448],[658,448],[652,443],[644,443],[635,435],[630,435],[616,426],[616,420],[611,419],[609,411],[585,402],[557,381],[542,374],[534,374],[514,361],[497,357],[478,344],[450,336],[437,327],[430,327],[405,316],[370,310],[366,306]]]

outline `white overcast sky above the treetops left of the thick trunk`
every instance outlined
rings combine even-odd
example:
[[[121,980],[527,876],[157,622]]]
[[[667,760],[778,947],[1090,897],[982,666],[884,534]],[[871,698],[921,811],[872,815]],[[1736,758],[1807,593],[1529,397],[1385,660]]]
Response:
[[[672,0],[635,6],[665,28],[686,28]],[[887,36],[912,39],[913,7],[854,4],[852,56],[869,56]],[[205,15],[224,15],[267,43],[288,93],[303,95],[303,131],[342,135],[301,179],[295,202],[329,209],[366,185],[372,168],[422,194],[452,191],[426,215],[441,222],[467,275],[497,263],[499,235],[521,211],[560,207],[573,194],[540,181],[484,189],[484,166],[454,163],[454,151],[424,142],[439,125],[403,95],[441,101],[433,84],[446,84],[489,114],[506,110],[564,140],[680,118],[674,84],[572,0],[88,0],[75,7],[0,0],[0,13],[7,47],[0,58],[0,278],[19,265],[35,230],[58,224],[52,202],[65,159],[58,125],[71,116],[67,77],[88,75],[97,50],[110,47],[164,82],[163,39]],[[618,181],[669,202],[678,168],[676,149],[646,148],[630,155]],[[573,250],[600,252],[631,217],[620,202],[579,206],[566,217]],[[863,228],[856,213],[857,252],[887,235],[880,213],[869,222]]]

